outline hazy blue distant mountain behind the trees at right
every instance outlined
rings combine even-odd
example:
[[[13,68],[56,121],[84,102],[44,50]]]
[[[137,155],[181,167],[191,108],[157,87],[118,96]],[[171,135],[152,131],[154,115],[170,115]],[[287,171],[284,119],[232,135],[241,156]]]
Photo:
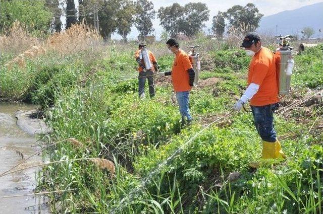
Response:
[[[323,37],[323,3],[305,6],[292,11],[283,11],[271,16],[262,17],[257,32],[276,35],[298,34],[304,27],[312,27],[315,33],[312,37]]]

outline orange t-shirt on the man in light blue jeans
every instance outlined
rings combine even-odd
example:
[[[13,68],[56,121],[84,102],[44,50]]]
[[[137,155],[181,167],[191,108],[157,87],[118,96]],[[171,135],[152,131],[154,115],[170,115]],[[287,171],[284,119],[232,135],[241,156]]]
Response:
[[[179,49],[175,54],[172,66],[172,81],[176,92],[190,91],[189,76],[187,70],[193,68],[190,57],[185,51]]]

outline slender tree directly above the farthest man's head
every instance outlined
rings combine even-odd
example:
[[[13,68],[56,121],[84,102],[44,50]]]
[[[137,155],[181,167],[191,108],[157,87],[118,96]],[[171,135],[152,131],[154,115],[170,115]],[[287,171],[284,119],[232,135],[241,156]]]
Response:
[[[155,17],[155,11],[153,10],[152,2],[147,0],[138,0],[136,2],[137,15],[135,20],[135,26],[140,32],[141,37],[145,40],[146,36],[153,32],[152,19]]]

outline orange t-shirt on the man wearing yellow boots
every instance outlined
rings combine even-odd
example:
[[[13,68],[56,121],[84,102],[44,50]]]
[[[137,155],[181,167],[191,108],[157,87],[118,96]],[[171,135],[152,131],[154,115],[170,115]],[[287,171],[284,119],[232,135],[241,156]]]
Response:
[[[274,53],[262,47],[251,59],[248,72],[248,86],[259,85],[258,92],[251,98],[250,105],[265,106],[277,103],[278,86]]]

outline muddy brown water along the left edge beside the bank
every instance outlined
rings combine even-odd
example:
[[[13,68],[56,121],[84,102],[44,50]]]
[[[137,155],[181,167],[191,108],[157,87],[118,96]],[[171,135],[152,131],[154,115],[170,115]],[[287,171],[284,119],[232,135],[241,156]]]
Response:
[[[34,108],[35,106],[26,104],[0,103],[0,174],[21,162],[20,154],[27,158],[35,153],[36,149],[32,146],[35,146],[37,139],[22,131],[17,126],[15,118],[15,111],[18,109],[24,111]],[[41,157],[35,156],[27,161],[28,164],[17,169],[40,162]],[[38,168],[32,168],[0,177],[0,213],[45,213],[39,210],[40,197],[1,198],[33,193],[37,172]]]

